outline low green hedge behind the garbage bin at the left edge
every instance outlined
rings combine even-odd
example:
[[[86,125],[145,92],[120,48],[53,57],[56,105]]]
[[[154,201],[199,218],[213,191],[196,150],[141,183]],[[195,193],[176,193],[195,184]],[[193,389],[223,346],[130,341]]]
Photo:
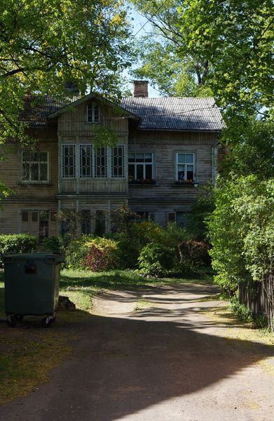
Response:
[[[37,250],[35,236],[29,234],[0,235],[0,255],[2,253],[33,253]],[[0,264],[2,261],[0,259]]]

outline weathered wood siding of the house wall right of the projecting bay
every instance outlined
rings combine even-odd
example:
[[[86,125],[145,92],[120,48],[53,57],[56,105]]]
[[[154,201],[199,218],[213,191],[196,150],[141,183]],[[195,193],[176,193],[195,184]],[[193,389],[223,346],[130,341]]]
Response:
[[[153,152],[157,185],[129,185],[129,203],[135,211],[157,213],[157,221],[167,223],[167,213],[188,212],[196,195],[193,185],[174,185],[175,154],[196,154],[196,181],[199,185],[212,181],[212,147],[216,133],[174,131],[135,131],[130,135],[129,152]]]

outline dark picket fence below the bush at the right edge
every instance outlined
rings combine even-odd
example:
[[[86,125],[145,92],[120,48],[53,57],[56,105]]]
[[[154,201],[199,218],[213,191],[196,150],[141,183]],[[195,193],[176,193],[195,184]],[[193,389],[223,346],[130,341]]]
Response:
[[[268,327],[274,328],[274,270],[261,282],[249,285],[241,282],[239,285],[239,301],[252,312],[252,316],[265,316]]]

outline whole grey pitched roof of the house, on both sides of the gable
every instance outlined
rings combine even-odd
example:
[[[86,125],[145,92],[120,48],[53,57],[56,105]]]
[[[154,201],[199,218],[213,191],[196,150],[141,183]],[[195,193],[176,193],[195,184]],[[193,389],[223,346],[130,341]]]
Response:
[[[48,118],[66,111],[66,105],[76,106],[93,96],[99,98],[90,94],[61,101],[48,95],[25,95],[20,120],[30,126],[45,126]],[[139,117],[141,129],[221,131],[225,127],[214,98],[123,98],[120,107],[132,118]]]

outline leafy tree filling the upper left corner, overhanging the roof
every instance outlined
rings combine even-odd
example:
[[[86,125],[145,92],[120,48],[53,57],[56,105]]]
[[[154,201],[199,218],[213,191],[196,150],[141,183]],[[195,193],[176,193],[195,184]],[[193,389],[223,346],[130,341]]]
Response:
[[[129,25],[122,1],[2,0],[0,4],[0,142],[24,139],[26,93],[65,101],[70,81],[118,95],[128,66]]]

